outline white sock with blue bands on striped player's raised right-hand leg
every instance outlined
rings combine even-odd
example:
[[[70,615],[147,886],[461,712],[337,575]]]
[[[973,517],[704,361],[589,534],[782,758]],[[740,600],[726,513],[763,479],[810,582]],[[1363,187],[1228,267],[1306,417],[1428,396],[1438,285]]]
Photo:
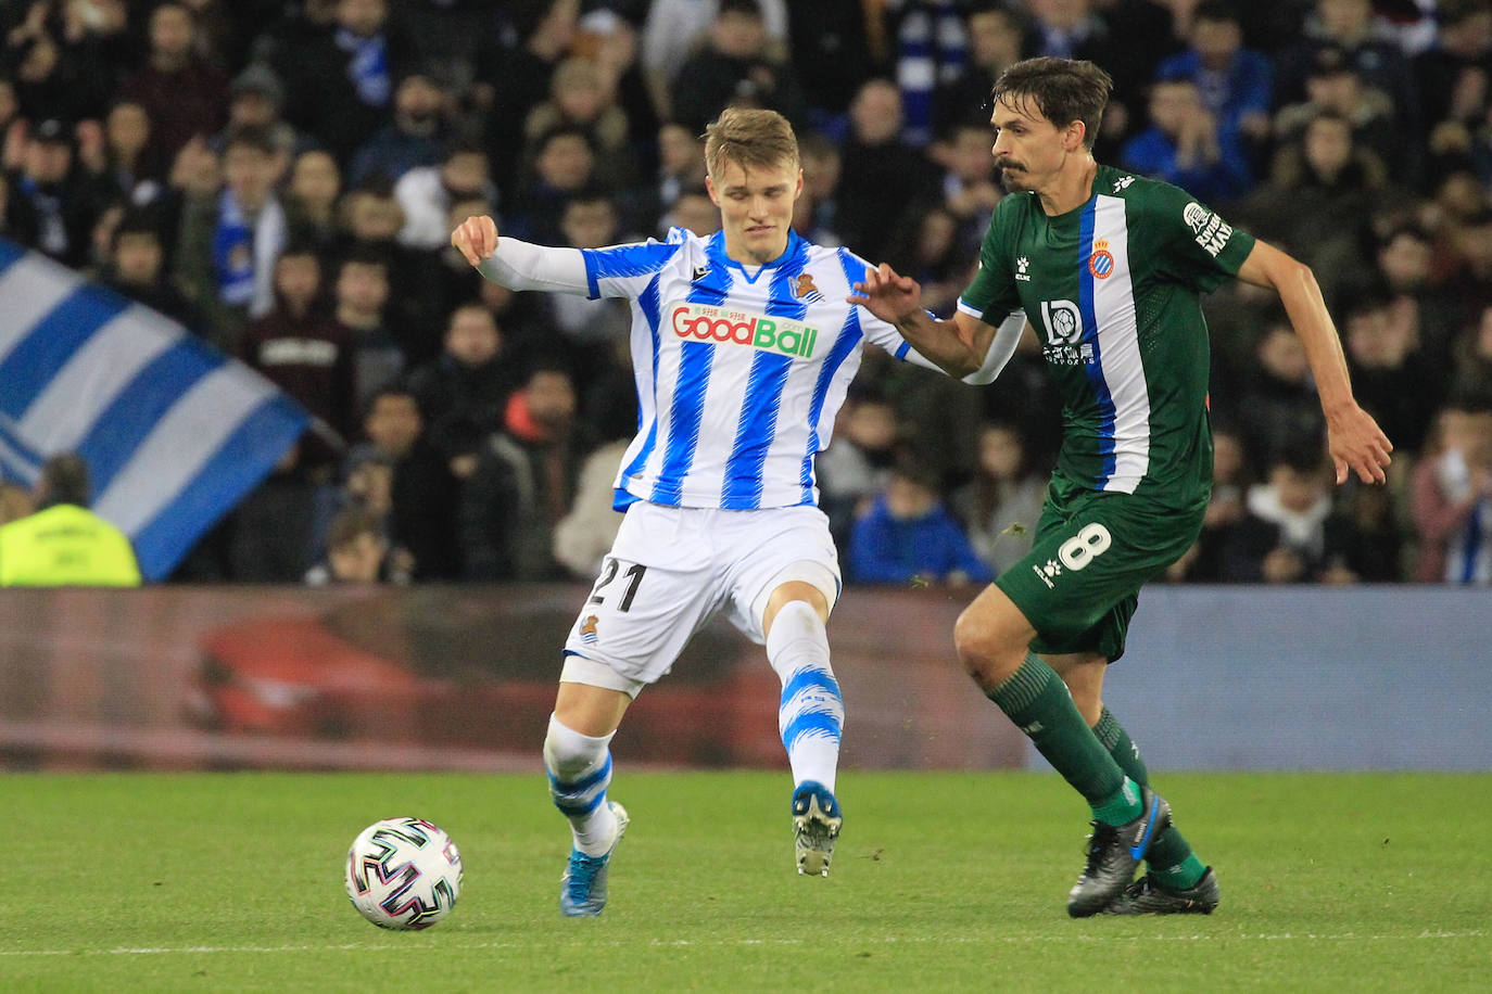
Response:
[[[767,635],[767,660],[782,680],[777,730],[792,782],[815,779],[833,793],[844,700],[830,668],[830,639],[818,611],[803,601],[777,611]]]

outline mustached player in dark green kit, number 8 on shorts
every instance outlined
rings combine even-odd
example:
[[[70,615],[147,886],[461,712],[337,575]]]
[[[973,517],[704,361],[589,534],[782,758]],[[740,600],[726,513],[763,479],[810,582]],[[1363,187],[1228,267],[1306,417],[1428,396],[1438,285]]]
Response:
[[[1068,914],[1209,914],[1217,879],[1176,830],[1101,696],[1140,586],[1191,547],[1207,505],[1200,295],[1229,276],[1279,292],[1316,377],[1337,483],[1349,472],[1383,483],[1392,446],[1352,396],[1310,267],[1176,186],[1094,161],[1110,89],[1086,61],[1007,69],[991,124],[1010,195],[958,313],[935,320],[918,283],[888,265],[867,271],[850,300],[953,376],[1013,352],[1013,322],[997,329],[1009,313],[1024,310],[1037,329],[1062,393],[1061,455],[1034,548],[968,605],[953,641],[985,694],[1092,806]],[[1149,873],[1135,881],[1141,860]]]

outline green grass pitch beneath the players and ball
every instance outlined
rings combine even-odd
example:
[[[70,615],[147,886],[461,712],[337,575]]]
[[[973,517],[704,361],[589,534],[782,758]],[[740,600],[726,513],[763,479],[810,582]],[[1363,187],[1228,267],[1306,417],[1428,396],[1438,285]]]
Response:
[[[1162,775],[1213,917],[1071,921],[1082,802],[1055,775],[841,775],[828,879],[786,773],[628,773],[598,919],[564,919],[542,776],[6,775],[3,991],[1489,990],[1492,775]],[[454,915],[364,922],[346,846],[416,814]]]

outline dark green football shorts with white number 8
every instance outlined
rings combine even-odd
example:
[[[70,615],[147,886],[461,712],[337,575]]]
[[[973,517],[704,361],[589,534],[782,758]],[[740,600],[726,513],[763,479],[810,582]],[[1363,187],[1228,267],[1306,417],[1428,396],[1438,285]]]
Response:
[[[995,580],[1035,629],[1031,651],[1123,656],[1140,587],[1192,547],[1206,507],[1177,510],[1055,478],[1035,544]]]

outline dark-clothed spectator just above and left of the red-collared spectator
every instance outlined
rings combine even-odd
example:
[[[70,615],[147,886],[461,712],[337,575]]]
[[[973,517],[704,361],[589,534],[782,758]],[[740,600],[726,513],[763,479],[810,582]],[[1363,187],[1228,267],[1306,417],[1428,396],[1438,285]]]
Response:
[[[445,352],[410,374],[409,392],[419,401],[431,444],[458,480],[471,475],[477,449],[503,426],[516,386],[513,361],[504,355],[503,331],[492,311],[477,303],[451,311]]]

